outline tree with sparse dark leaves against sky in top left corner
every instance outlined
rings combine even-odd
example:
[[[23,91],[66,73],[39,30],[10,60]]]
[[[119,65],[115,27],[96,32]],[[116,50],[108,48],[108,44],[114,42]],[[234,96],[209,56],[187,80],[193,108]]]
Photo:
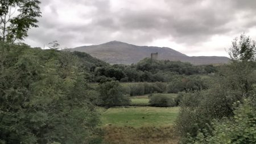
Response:
[[[0,1],[0,39],[13,43],[27,37],[31,27],[38,27],[36,18],[40,17],[38,0]]]

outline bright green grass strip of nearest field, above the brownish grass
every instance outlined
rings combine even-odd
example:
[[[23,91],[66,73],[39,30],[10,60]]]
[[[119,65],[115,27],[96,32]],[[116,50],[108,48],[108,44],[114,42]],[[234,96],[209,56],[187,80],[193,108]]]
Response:
[[[102,126],[171,126],[176,120],[179,108],[156,107],[114,107],[101,108]]]

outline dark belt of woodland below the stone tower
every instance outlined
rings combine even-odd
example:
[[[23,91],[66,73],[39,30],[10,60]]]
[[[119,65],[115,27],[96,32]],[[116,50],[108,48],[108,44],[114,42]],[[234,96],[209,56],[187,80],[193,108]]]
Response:
[[[93,65],[90,71],[90,82],[100,82],[106,78],[120,82],[172,82],[181,75],[212,74],[217,68],[213,65],[195,66],[187,62],[145,58],[132,65]]]

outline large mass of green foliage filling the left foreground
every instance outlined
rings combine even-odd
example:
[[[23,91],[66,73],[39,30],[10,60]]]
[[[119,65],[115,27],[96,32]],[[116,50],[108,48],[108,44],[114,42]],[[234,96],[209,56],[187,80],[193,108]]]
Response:
[[[1,49],[1,143],[91,141],[97,98],[77,57],[26,45],[2,43]]]

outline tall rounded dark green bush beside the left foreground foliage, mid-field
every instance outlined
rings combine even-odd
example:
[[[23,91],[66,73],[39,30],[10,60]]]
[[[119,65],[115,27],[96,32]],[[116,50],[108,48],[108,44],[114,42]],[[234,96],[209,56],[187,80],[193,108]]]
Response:
[[[105,107],[129,105],[129,96],[125,95],[123,88],[118,81],[106,81],[100,83],[98,87],[100,92],[101,105]]]

